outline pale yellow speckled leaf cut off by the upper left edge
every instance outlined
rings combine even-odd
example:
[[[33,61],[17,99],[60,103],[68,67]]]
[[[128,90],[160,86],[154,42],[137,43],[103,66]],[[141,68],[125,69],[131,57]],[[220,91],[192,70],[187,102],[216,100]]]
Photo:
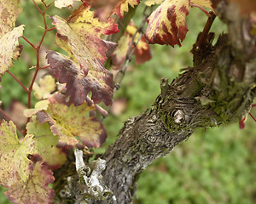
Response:
[[[20,0],[0,0],[0,76],[13,66],[12,59],[20,56],[19,37],[24,26],[14,28],[21,13]]]

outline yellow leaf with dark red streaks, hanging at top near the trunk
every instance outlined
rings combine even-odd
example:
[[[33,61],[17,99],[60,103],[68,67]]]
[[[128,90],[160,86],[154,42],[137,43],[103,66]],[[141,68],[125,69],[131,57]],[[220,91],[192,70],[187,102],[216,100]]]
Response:
[[[165,0],[148,17],[148,29],[145,35],[148,42],[172,47],[175,44],[181,46],[188,31],[186,17],[189,8],[189,0]]]

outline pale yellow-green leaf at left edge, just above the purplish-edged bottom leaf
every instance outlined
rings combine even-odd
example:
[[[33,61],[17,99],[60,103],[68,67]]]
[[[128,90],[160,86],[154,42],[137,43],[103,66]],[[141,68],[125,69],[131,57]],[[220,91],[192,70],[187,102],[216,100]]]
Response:
[[[32,161],[27,156],[32,154],[33,135],[27,134],[20,142],[15,124],[2,121],[0,138],[0,184],[8,188],[17,181],[26,182],[32,167]]]

